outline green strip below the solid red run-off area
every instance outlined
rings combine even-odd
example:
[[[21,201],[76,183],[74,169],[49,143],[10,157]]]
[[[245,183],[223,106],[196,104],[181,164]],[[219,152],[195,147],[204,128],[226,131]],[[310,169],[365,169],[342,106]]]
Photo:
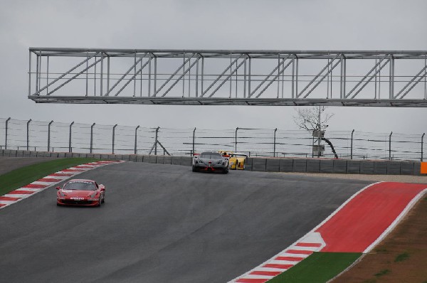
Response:
[[[268,283],[325,283],[352,265],[361,255],[359,252],[314,252]]]

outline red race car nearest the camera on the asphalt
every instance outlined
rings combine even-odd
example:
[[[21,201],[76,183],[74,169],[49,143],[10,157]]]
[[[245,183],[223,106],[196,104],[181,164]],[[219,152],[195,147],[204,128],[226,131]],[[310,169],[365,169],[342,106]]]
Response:
[[[100,206],[105,202],[105,186],[92,180],[73,179],[56,189],[57,205]]]

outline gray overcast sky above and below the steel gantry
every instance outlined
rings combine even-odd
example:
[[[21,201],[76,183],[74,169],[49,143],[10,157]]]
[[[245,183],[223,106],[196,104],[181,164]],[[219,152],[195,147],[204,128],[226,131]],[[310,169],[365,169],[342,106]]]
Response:
[[[0,10],[0,117],[142,127],[295,129],[292,107],[28,100],[28,47],[427,50],[427,1],[20,1]],[[212,112],[223,122],[201,119]],[[427,132],[427,109],[329,107],[330,130]]]

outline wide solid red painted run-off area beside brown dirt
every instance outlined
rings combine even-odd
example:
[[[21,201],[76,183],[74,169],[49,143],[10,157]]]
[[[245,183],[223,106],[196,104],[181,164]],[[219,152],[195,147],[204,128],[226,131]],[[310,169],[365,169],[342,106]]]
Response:
[[[370,186],[317,229],[326,243],[322,252],[364,252],[425,188],[394,182]]]

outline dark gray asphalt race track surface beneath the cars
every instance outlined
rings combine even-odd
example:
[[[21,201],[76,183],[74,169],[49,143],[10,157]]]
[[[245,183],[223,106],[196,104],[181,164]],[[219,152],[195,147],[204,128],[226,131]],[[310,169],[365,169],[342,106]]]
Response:
[[[105,205],[57,207],[48,188],[0,210],[0,282],[228,282],[370,183],[131,162],[78,178]]]

